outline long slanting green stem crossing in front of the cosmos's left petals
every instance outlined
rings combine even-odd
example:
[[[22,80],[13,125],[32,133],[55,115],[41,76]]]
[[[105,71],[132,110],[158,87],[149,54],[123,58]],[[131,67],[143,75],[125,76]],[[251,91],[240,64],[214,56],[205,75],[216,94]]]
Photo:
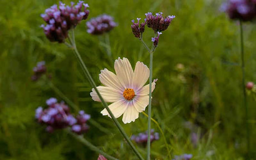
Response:
[[[75,53],[76,58],[78,59],[81,67],[82,67],[82,71],[83,74],[85,74],[85,77],[88,79],[88,81],[90,82],[91,86],[95,89],[97,95],[99,96],[103,106],[107,109],[107,112],[109,112],[110,117],[112,118],[112,120],[114,121],[114,123],[116,124],[116,127],[119,129],[119,131],[121,132],[122,136],[124,136],[126,142],[129,144],[129,146],[132,148],[132,150],[134,151],[134,153],[136,154],[136,156],[139,159],[143,159],[141,154],[137,151],[137,149],[135,148],[134,144],[131,142],[130,138],[127,136],[127,134],[124,131],[124,128],[122,128],[121,124],[117,121],[117,119],[115,118],[114,114],[111,112],[111,110],[109,109],[109,106],[107,105],[107,103],[104,101],[104,99],[102,98],[99,90],[97,89],[97,86],[95,84],[95,82],[93,81],[90,72],[88,71],[87,67],[85,66],[85,63],[83,63],[83,60],[80,56],[80,53],[77,51],[76,48],[76,43],[75,43],[75,35],[74,35],[74,29],[72,30],[72,39],[71,39],[71,43],[73,46],[73,51]]]

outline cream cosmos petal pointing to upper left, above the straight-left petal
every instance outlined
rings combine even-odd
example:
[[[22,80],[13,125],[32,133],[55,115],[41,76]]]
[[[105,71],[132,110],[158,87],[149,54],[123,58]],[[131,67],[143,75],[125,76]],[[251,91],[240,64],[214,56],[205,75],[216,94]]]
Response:
[[[107,68],[101,70],[100,73],[100,82],[107,87],[115,88],[119,90],[121,93],[124,92],[124,87],[120,83],[119,79],[117,78],[116,74],[110,72]]]

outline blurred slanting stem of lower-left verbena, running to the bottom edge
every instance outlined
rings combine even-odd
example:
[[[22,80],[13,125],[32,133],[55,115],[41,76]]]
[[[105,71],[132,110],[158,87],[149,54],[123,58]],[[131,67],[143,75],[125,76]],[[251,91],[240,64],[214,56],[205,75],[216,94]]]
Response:
[[[88,148],[90,148],[92,151],[95,151],[99,154],[102,154],[104,157],[106,157],[107,159],[110,160],[119,160],[115,157],[110,156],[109,154],[101,151],[99,148],[97,148],[96,146],[93,146],[93,144],[91,144],[90,142],[88,142],[85,138],[83,138],[82,136],[78,136],[75,133],[72,133],[70,131],[67,131],[67,133],[71,134],[71,136],[73,136],[74,138],[76,138],[78,141],[80,141],[81,143],[85,144],[85,146],[87,146]]]

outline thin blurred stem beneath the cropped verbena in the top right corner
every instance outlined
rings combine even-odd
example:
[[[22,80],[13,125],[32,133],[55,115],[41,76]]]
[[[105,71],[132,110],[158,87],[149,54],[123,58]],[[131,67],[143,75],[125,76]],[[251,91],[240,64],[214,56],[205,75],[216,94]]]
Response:
[[[243,39],[243,23],[240,20],[240,43],[241,43],[241,59],[242,59],[242,72],[243,72],[243,96],[244,96],[244,108],[245,108],[245,126],[247,132],[247,152],[250,157],[250,128],[248,124],[248,106],[247,106],[247,95],[245,91],[245,70],[244,70],[244,39]]]

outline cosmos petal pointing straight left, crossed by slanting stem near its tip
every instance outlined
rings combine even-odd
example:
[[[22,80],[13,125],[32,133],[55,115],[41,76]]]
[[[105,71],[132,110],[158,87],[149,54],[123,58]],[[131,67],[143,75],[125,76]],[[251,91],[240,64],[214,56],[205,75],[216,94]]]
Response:
[[[114,88],[98,86],[97,89],[99,90],[105,102],[116,102],[123,98],[122,93]],[[92,88],[92,92],[90,93],[90,95],[94,101],[101,102],[94,88]]]

